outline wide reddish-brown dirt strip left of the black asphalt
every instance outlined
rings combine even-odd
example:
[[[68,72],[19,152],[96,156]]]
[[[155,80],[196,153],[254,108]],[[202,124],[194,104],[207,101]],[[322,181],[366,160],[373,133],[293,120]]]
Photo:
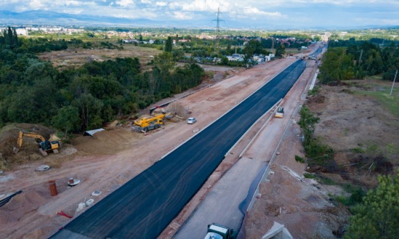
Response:
[[[147,136],[132,132],[129,128],[99,132],[94,138],[76,139],[73,147],[64,149],[59,155],[50,155],[45,160],[4,172],[0,192],[22,190],[23,193],[0,208],[0,238],[50,236],[70,221],[56,215],[57,212],[63,211],[71,216],[81,213],[76,212],[80,202],[89,198],[98,202],[295,60],[281,59],[258,65],[182,99],[181,102],[193,112],[192,116],[199,119],[195,125],[187,125],[184,121],[167,123],[165,128]],[[64,161],[63,157],[68,160]],[[60,162],[60,167],[45,172],[34,171],[37,166],[49,160]],[[229,162],[220,165],[225,169],[230,166]],[[80,184],[68,188],[70,177],[79,179]],[[55,197],[49,195],[48,180],[56,181],[59,194]],[[91,196],[95,190],[100,190],[101,196]]]

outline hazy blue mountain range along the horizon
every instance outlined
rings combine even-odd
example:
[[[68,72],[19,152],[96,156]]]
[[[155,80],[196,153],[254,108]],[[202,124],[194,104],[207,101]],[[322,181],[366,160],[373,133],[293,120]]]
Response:
[[[267,24],[267,23],[266,23]],[[63,25],[63,26],[148,26],[148,27],[201,27],[215,28],[215,22],[211,19],[190,20],[150,20],[144,18],[120,18],[112,16],[77,15],[45,10],[30,10],[14,12],[0,10],[0,25]],[[252,28],[252,29],[298,29],[290,25],[265,25],[265,22],[251,21],[243,22],[228,20],[228,26],[221,24],[221,28]],[[398,26],[362,26],[362,27],[340,27],[340,26],[305,26],[299,29],[364,29],[364,28],[398,28]]]

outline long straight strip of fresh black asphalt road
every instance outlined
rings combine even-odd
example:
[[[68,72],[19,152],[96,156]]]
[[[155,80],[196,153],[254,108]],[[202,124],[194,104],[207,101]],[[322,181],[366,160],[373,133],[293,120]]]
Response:
[[[303,60],[290,65],[241,104],[51,238],[157,238],[197,193],[224,154],[285,96],[305,66]]]

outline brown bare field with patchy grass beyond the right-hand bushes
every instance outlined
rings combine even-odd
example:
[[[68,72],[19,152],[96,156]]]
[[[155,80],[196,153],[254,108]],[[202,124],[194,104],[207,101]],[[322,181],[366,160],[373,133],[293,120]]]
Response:
[[[363,93],[379,92],[390,85],[366,79],[323,86],[307,104],[320,118],[315,136],[336,152],[339,173],[366,188],[375,185],[378,174],[389,174],[399,165],[398,117]]]

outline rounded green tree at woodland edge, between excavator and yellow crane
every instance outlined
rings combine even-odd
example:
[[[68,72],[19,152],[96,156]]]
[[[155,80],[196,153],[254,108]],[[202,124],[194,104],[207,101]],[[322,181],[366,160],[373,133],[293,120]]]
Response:
[[[73,132],[80,128],[79,110],[74,106],[64,106],[58,110],[57,115],[52,118],[52,125],[65,132]]]

